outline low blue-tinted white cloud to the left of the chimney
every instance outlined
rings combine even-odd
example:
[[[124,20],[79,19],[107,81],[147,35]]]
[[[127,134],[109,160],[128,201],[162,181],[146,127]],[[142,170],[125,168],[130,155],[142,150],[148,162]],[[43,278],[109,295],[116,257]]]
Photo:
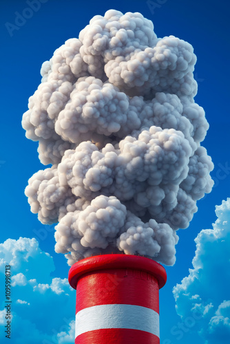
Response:
[[[5,264],[11,265],[14,344],[72,344],[76,292],[66,278],[51,277],[52,257],[39,248],[36,239],[28,238],[0,244],[0,257],[0,285]],[[5,339],[4,301],[0,301],[0,342]]]

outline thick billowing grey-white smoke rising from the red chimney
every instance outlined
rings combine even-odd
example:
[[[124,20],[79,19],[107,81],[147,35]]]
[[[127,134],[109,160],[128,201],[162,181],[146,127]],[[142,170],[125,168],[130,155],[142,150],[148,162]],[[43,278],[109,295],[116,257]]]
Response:
[[[176,230],[213,186],[195,63],[189,43],[116,10],[43,63],[22,125],[52,166],[25,195],[43,224],[59,222],[55,250],[68,264],[112,252],[174,264]]]

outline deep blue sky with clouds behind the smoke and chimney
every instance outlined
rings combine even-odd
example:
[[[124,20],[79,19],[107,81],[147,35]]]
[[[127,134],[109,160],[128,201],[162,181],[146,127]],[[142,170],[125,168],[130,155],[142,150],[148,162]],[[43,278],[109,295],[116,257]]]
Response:
[[[222,200],[230,197],[227,1],[128,0],[110,1],[108,4],[89,0],[43,0],[39,2],[40,8],[26,12],[28,2],[30,0],[3,0],[0,3],[3,105],[0,136],[0,183],[3,195],[0,292],[4,295],[4,261],[12,261],[12,336],[16,333],[18,336],[20,332],[20,336],[17,339],[14,337],[12,343],[23,341],[28,344],[32,338],[35,344],[73,342],[74,291],[66,281],[69,267],[65,257],[54,252],[54,226],[44,226],[36,215],[30,213],[27,197],[23,193],[28,178],[42,169],[43,165],[36,153],[36,142],[25,138],[21,117],[27,110],[29,96],[40,83],[39,71],[43,61],[48,60],[67,39],[78,37],[94,15],[103,15],[109,8],[123,13],[141,12],[153,21],[159,37],[173,34],[185,39],[194,46],[198,56],[194,72],[198,82],[195,100],[204,107],[210,125],[203,144],[215,164],[211,173],[215,185],[211,194],[198,201],[198,213],[194,215],[189,228],[178,233],[180,240],[176,247],[176,264],[166,268],[168,281],[160,291],[160,338],[163,344],[190,344],[194,341],[197,344],[227,343],[230,307],[227,303],[229,294],[224,286],[229,281],[226,273],[229,250],[221,244],[224,242],[227,245],[229,240],[226,229],[229,225],[224,221],[230,220],[230,202],[222,204]],[[23,13],[28,19],[20,21],[19,14]],[[222,208],[215,213],[215,206],[221,204]],[[226,230],[217,233],[222,228]],[[200,233],[202,229],[212,231]],[[213,239],[215,230],[216,238]],[[210,250],[213,252],[211,258],[207,253]],[[218,259],[220,256],[221,259]],[[222,276],[218,286],[214,285],[213,291],[207,294],[211,283],[211,264],[217,259],[222,268],[218,269],[217,266],[213,270],[213,278]],[[202,279],[198,278],[199,273]],[[221,295],[217,296],[218,288]],[[54,305],[59,305],[62,311],[53,311]],[[198,305],[199,312],[195,312]],[[5,323],[1,310],[3,304],[0,303],[0,327]],[[47,312],[50,312],[49,321],[44,322]],[[30,338],[27,337],[28,327],[31,329]],[[221,342],[220,338],[215,339],[220,328],[223,336]],[[34,338],[37,338],[37,342]]]

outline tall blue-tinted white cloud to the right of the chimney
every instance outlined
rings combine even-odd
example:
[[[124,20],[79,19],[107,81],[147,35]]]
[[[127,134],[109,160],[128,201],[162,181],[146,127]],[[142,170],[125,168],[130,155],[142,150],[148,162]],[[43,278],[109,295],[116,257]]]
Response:
[[[174,287],[178,314],[196,314],[189,333],[198,331],[205,344],[227,344],[230,338],[230,198],[216,206],[216,215],[213,229],[195,239],[194,268]]]

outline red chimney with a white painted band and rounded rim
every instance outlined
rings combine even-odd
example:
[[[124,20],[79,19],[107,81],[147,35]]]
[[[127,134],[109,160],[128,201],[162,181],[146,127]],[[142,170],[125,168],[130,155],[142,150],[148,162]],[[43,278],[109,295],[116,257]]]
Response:
[[[159,344],[159,293],[165,268],[134,255],[100,255],[75,263],[75,344]]]

